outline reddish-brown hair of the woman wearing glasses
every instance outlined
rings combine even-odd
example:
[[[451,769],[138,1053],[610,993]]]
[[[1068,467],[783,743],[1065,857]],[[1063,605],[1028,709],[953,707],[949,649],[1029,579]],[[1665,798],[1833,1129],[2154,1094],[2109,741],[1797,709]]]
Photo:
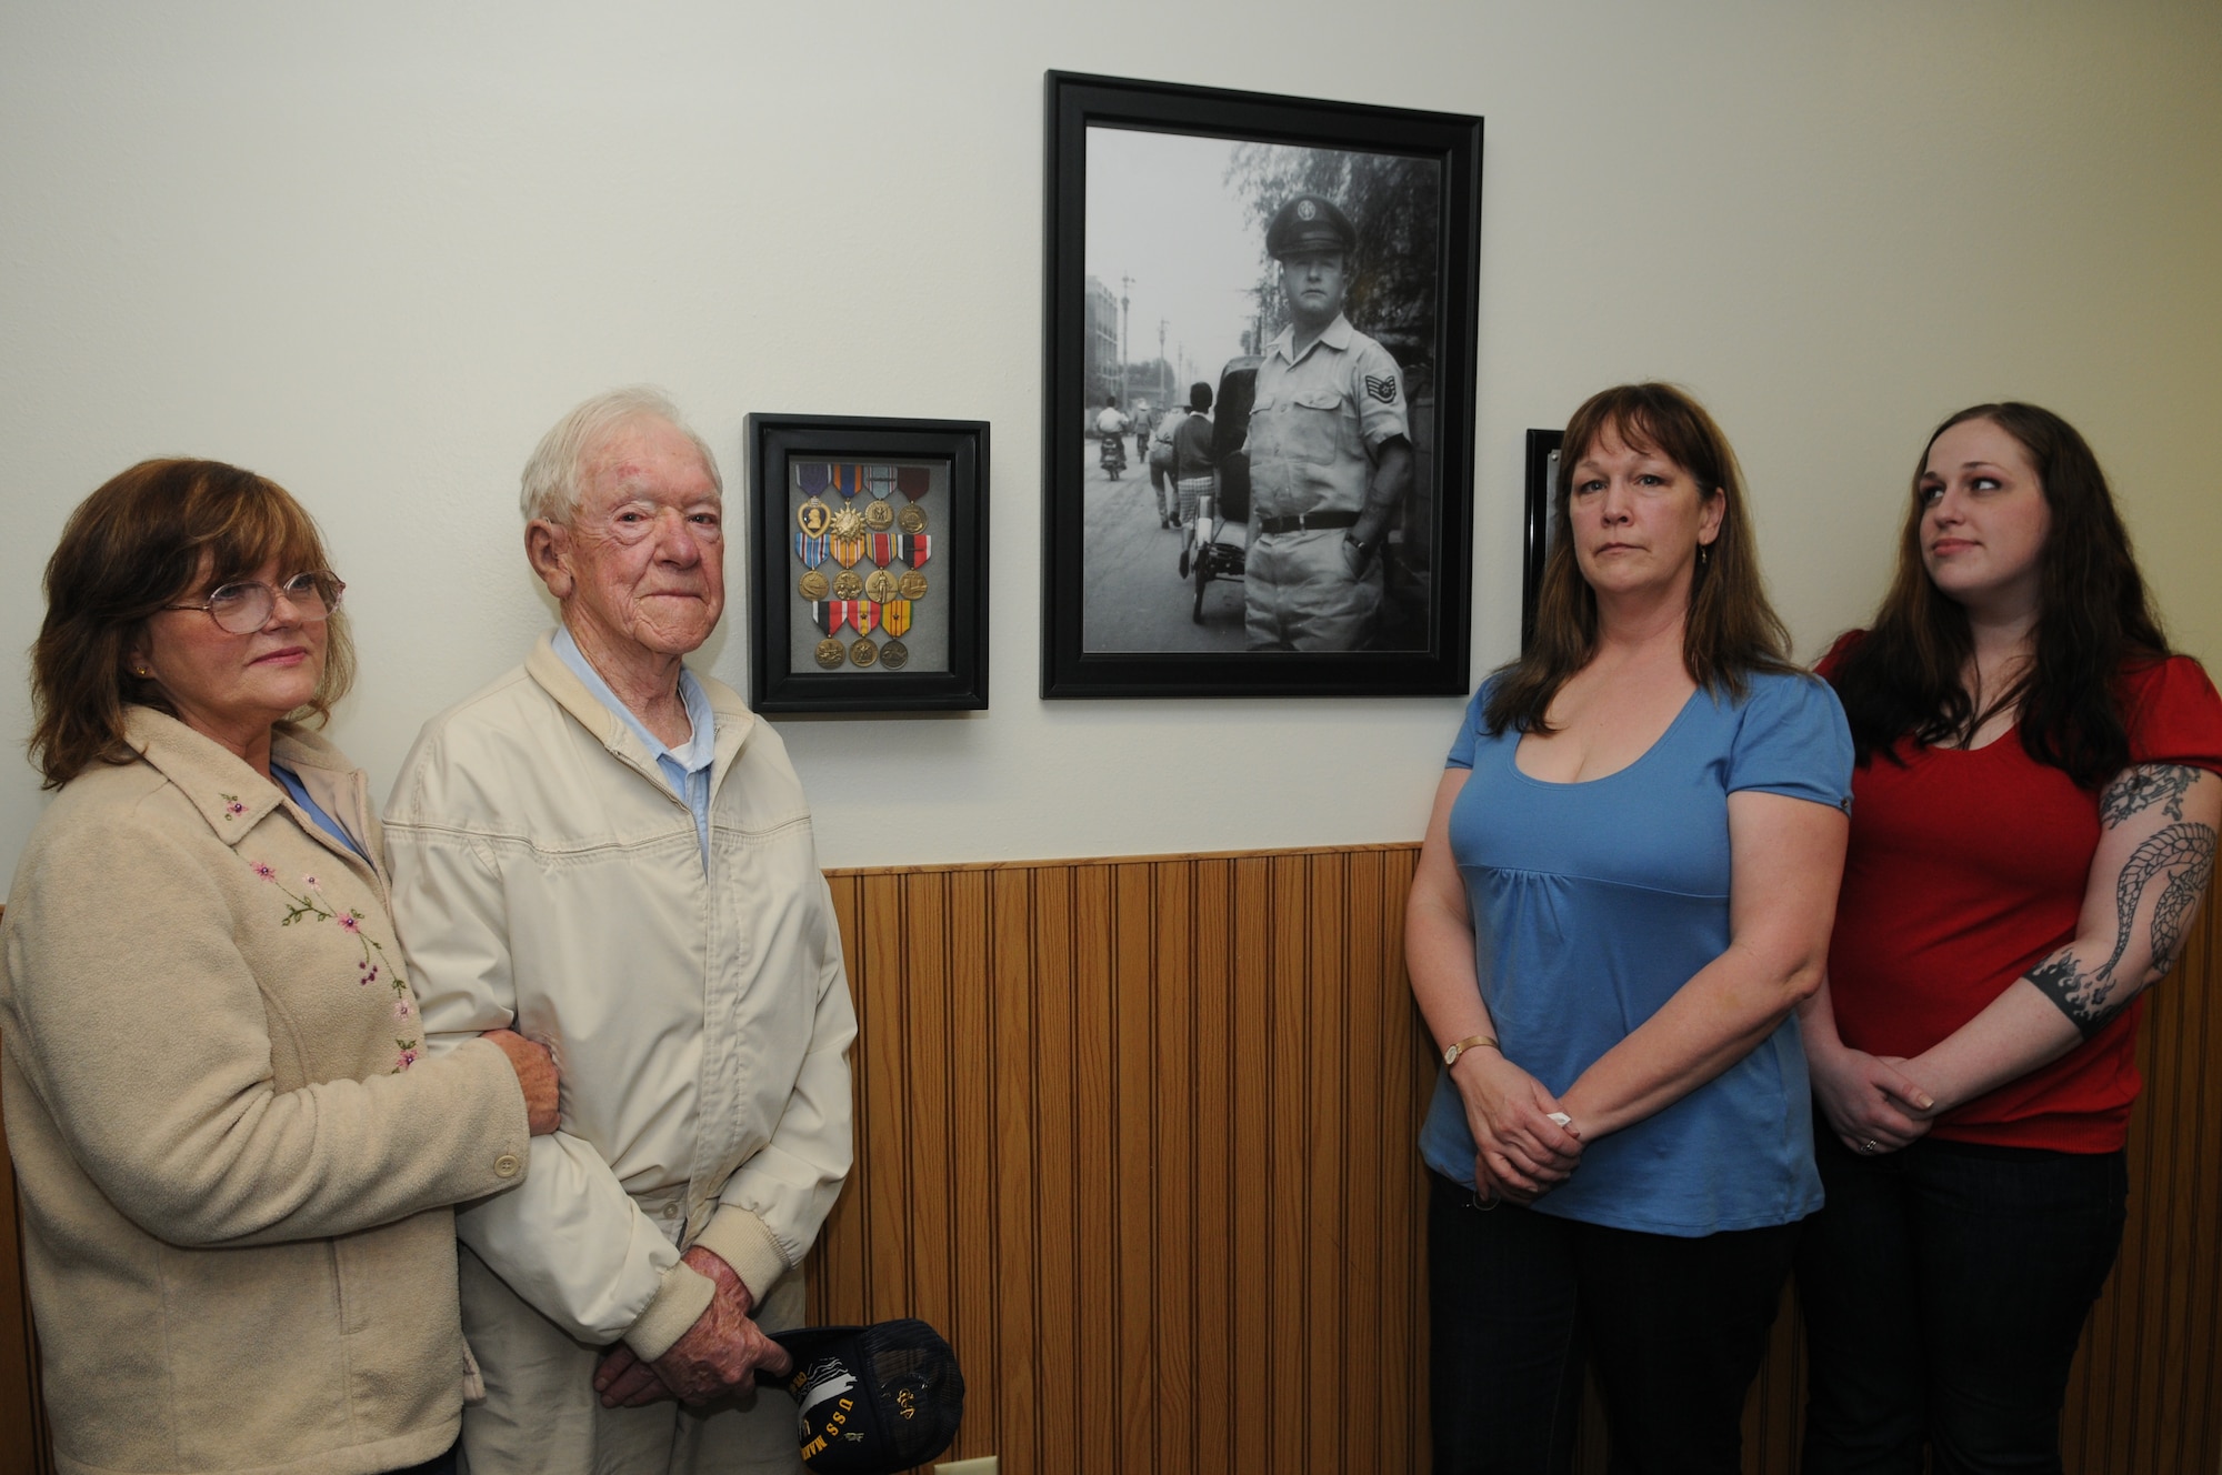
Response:
[[[284,486],[204,460],[147,460],[69,513],[47,560],[47,622],[31,646],[31,762],[60,789],[96,762],[127,764],[124,706],[178,715],[151,680],[131,675],[142,626],[167,604],[218,584],[320,573],[331,564],[316,522]],[[356,651],[333,611],[324,678],[289,722],[318,722],[347,695]]]

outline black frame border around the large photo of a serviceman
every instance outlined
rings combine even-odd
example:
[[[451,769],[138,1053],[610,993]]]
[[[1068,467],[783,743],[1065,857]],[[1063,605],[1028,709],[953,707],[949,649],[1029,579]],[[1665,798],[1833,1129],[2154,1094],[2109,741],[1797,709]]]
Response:
[[[1424,529],[1431,562],[1427,593],[1418,600],[1427,631],[1418,646],[1335,653],[1084,649],[1087,151],[1089,129],[1102,127],[1440,164]],[[1464,695],[1473,638],[1482,120],[1051,71],[1044,164],[1042,698]]]

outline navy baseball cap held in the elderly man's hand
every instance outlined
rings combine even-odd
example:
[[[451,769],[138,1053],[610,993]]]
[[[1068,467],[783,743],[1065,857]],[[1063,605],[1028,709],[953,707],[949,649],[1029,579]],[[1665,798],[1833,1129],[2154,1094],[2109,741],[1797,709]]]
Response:
[[[778,1382],[795,1399],[795,1437],[811,1471],[898,1475],[958,1437],[964,1373],[924,1322],[800,1326],[771,1339],[795,1359]]]

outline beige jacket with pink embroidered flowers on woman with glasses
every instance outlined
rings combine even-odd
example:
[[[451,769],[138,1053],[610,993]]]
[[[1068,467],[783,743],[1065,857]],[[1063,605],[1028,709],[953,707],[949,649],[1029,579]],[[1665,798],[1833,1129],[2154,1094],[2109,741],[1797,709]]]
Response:
[[[64,1475],[364,1475],[456,1439],[447,1208],[516,1184],[524,1095],[420,1060],[387,880],[229,749],[129,709],[142,762],[47,809],[0,929],[0,1082]],[[276,757],[378,855],[362,773]]]

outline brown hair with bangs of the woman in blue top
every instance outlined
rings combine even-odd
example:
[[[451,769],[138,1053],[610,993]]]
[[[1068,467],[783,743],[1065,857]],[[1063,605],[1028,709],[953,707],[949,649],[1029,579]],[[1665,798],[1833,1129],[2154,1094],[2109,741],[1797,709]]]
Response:
[[[1507,726],[1547,733],[1551,700],[1575,671],[1598,653],[1598,593],[1573,558],[1573,464],[1589,455],[1604,431],[1631,451],[1664,455],[1682,466],[1709,495],[1726,506],[1720,533],[1691,573],[1689,615],[1682,624],[1682,664],[1693,682],[1713,695],[1742,698],[1753,671],[1795,671],[1791,640],[1760,580],[1760,555],[1751,544],[1751,513],[1744,511],[1744,478],[1729,438],[1704,407],[1673,384],[1618,384],[1591,395],[1567,422],[1551,489],[1551,558],[1542,566],[1535,598],[1535,638],[1509,666],[1495,671],[1482,724],[1489,735]]]

